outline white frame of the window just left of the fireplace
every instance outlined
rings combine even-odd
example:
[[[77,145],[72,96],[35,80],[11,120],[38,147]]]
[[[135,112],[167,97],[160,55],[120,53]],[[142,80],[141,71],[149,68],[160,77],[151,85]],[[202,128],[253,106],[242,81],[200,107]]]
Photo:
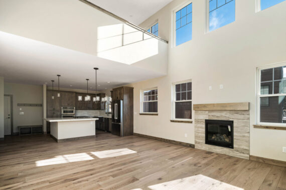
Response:
[[[192,99],[176,101],[176,84],[181,84],[181,83],[186,83],[186,82],[192,82],[192,79],[173,82],[172,84],[172,118],[171,120],[181,120],[181,121],[192,121],[193,120],[193,82],[192,82]],[[192,101],[192,107],[191,107],[192,118],[191,119],[175,118],[176,102],[185,102],[185,101]]]

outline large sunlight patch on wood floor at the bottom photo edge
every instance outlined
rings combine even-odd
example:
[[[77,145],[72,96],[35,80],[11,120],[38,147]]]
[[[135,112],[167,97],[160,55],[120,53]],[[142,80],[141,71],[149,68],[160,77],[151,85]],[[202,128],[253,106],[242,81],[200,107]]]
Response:
[[[169,189],[192,189],[192,190],[243,190],[243,188],[221,182],[211,177],[199,174],[168,182],[163,182],[148,186],[152,190],[169,190]]]

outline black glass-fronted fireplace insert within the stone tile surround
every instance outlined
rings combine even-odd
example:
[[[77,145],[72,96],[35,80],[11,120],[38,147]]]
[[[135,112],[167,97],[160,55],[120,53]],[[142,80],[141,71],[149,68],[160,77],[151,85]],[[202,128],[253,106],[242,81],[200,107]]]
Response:
[[[205,120],[206,144],[233,148],[232,120]]]

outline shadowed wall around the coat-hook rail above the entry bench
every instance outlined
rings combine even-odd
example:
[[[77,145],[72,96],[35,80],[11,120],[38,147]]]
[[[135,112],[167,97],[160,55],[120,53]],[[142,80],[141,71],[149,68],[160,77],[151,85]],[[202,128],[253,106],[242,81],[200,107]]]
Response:
[[[43,107],[18,106],[18,103],[43,103],[43,86],[4,83],[4,93],[13,95],[13,132],[19,132],[20,125],[42,125]],[[22,110],[20,110],[22,108]],[[20,115],[20,111],[24,115]]]

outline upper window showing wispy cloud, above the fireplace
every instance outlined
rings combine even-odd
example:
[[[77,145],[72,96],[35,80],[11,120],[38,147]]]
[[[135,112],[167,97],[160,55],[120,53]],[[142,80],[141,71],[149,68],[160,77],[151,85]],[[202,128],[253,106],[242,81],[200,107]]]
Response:
[[[235,21],[235,0],[209,1],[209,31]]]

